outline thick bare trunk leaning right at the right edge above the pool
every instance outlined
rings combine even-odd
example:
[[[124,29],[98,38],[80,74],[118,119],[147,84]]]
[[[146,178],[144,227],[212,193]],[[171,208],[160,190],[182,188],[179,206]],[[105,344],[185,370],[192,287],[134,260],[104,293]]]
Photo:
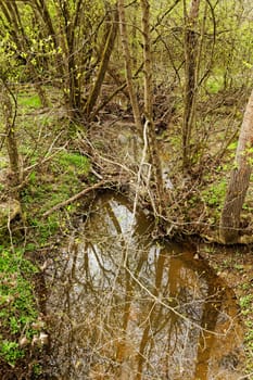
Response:
[[[249,99],[238,140],[235,167],[231,172],[220,217],[219,237],[225,243],[239,240],[240,215],[250,183],[253,160],[253,91]]]

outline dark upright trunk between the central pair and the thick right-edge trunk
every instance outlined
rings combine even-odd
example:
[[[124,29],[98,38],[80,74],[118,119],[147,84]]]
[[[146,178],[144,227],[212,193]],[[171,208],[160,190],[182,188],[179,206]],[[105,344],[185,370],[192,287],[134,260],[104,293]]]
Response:
[[[190,166],[190,139],[195,114],[198,37],[195,24],[199,17],[200,0],[191,0],[189,15],[186,15],[185,33],[185,112],[182,124],[182,167]],[[187,11],[185,10],[185,13]]]

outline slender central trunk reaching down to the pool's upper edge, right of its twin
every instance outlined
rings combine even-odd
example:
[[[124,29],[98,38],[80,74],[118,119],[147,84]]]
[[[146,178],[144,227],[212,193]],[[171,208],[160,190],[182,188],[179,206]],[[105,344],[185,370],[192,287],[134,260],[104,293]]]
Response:
[[[149,151],[156,187],[159,214],[166,216],[166,204],[163,186],[161,160],[153,121],[153,83],[152,83],[152,54],[150,38],[150,4],[148,0],[140,0],[142,10],[142,36],[143,36],[143,61],[144,61],[144,114],[149,123]]]

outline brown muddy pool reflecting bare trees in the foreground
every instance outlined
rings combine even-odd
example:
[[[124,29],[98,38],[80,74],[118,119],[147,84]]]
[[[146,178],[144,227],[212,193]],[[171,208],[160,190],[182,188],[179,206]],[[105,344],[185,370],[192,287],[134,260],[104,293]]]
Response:
[[[243,379],[233,292],[192,248],[152,240],[122,197],[100,197],[46,273],[48,378]]]

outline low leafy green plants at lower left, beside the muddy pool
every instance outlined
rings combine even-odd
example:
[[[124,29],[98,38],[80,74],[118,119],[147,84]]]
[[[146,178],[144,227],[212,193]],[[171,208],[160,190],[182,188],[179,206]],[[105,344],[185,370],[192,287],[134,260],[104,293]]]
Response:
[[[30,279],[36,273],[23,251],[0,248],[0,359],[12,366],[25,355],[18,339],[34,335],[38,312]]]

